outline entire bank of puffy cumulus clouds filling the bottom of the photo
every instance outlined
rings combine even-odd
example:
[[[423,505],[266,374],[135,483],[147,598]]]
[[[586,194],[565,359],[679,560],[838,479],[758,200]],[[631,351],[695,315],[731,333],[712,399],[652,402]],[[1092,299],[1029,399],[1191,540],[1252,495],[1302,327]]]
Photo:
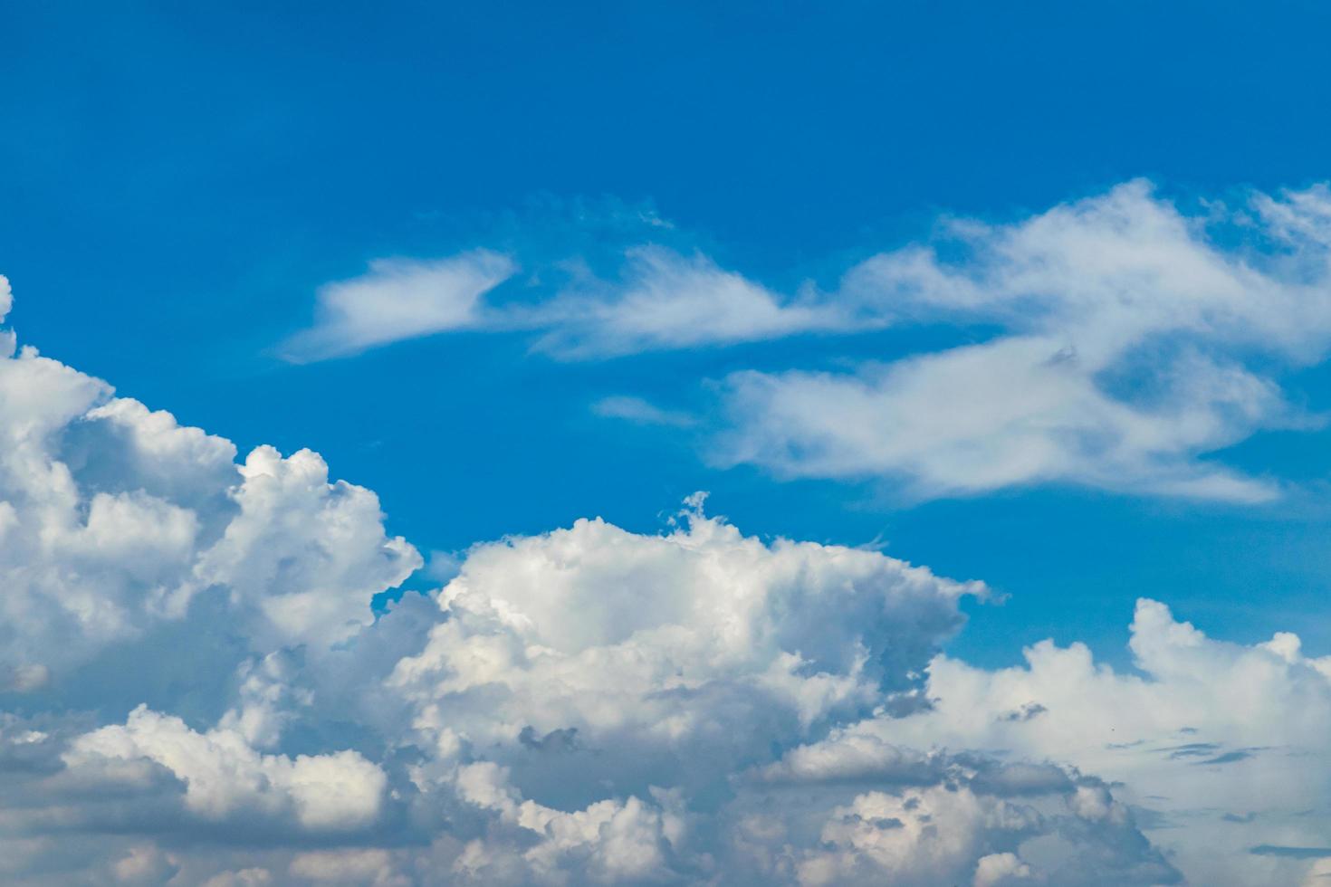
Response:
[[[0,358],[0,443],[5,883],[1319,871],[1331,665],[1292,636],[1143,602],[1147,678],[1049,644],[974,669],[940,648],[984,585],[700,496],[655,535],[478,544],[375,614],[422,560],[313,452],[237,461],[32,350]]]

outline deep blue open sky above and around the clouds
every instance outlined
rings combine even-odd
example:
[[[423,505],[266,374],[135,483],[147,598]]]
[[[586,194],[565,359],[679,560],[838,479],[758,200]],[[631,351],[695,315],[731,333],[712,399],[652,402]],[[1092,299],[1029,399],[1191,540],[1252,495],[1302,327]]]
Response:
[[[1143,592],[1326,649],[1327,517],[1298,496],[1054,485],[910,507],[709,468],[687,434],[588,411],[908,352],[909,334],[572,366],[526,356],[520,335],[273,356],[321,283],[373,258],[604,257],[659,239],[642,211],[793,287],[928,237],[940,213],[1020,218],[1139,176],[1182,199],[1307,185],[1331,149],[1326,24],[1316,4],[17,4],[0,262],[25,342],[242,447],[317,447],[425,548],[583,515],[650,529],[708,489],[752,532],[878,540],[984,577],[1012,597],[958,642],[989,661],[1049,634],[1113,657]],[[1298,384],[1315,407],[1326,388],[1316,370]],[[1324,443],[1258,436],[1236,459],[1316,484]]]

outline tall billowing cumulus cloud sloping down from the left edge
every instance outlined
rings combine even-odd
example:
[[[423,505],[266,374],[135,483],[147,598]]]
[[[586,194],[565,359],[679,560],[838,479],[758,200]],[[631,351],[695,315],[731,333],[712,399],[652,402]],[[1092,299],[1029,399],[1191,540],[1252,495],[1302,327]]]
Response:
[[[345,640],[421,563],[370,491],[24,350],[0,360],[0,677],[40,688],[222,597],[254,652]],[[319,646],[322,645],[322,646]]]

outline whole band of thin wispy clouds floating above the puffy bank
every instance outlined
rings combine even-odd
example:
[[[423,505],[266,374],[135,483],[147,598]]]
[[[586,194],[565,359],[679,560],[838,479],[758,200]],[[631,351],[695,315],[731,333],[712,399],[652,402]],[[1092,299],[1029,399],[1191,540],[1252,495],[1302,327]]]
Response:
[[[795,295],[652,245],[623,250],[608,278],[575,274],[503,299],[492,291],[516,266],[494,253],[379,263],[321,290],[319,323],[290,346],[317,359],[467,328],[596,360],[819,334],[785,368],[719,380],[701,416],[709,459],[880,481],[916,499],[1030,484],[1235,503],[1280,495],[1278,479],[1214,453],[1264,430],[1323,424],[1283,379],[1331,347],[1326,186],[1189,214],[1133,181],[1014,222],[953,218],[938,230],[855,265],[831,290],[807,283]],[[982,332],[914,352],[906,338],[894,359],[840,358],[841,335],[918,324]],[[684,415],[639,399],[628,416],[628,403],[599,411]]]

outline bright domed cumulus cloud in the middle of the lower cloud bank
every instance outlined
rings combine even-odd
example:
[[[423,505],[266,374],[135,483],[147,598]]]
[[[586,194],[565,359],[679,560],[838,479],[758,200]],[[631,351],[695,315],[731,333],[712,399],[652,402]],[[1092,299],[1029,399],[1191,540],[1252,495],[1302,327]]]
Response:
[[[720,775],[890,694],[906,703],[961,625],[957,598],[982,592],[874,552],[684,521],[658,537],[580,520],[469,552],[439,592],[446,618],[391,680],[429,743],[530,762],[542,741],[563,751],[542,766],[595,754],[638,789],[651,749]]]

